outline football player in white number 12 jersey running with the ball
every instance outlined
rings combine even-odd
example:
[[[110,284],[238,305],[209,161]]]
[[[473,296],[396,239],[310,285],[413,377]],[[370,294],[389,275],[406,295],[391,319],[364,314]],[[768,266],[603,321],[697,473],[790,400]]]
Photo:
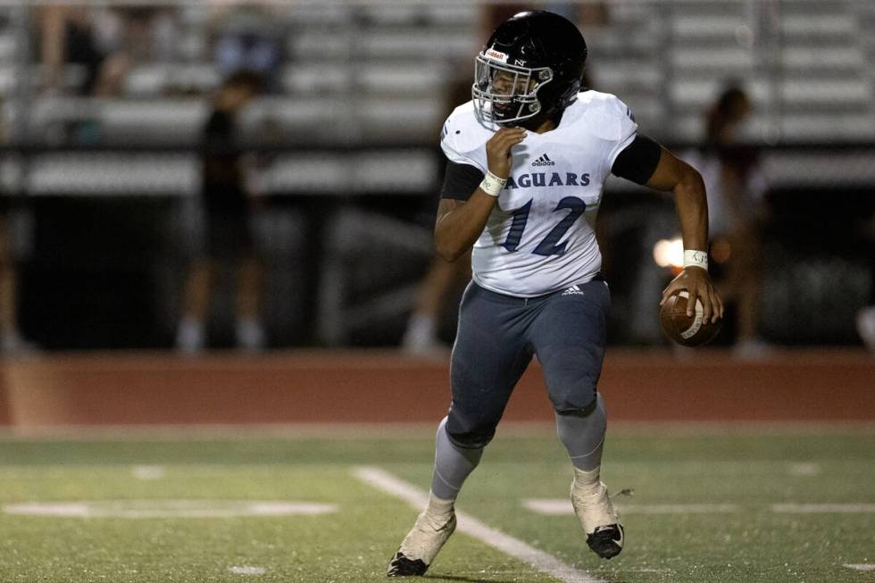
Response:
[[[422,575],[455,529],[454,501],[477,467],[513,387],[537,355],[559,438],[573,465],[571,502],[587,545],[611,558],[623,527],[599,479],[606,427],[596,390],[610,304],[593,226],[609,173],[671,191],[685,269],[680,289],[722,317],[707,271],[708,212],[701,176],[637,133],[616,96],[582,91],[587,46],[551,12],[520,12],[475,58],[473,100],[441,135],[448,159],[437,210],[437,253],[471,247],[452,355],[452,403],[437,427],[428,507],[389,563]]]

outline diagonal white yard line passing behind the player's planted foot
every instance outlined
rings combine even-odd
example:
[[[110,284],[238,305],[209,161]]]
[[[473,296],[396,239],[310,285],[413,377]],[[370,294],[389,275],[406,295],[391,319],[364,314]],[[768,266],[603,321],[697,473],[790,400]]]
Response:
[[[428,493],[411,486],[402,479],[396,478],[387,471],[371,466],[362,466],[355,468],[353,473],[356,478],[387,494],[401,498],[416,510],[425,508],[429,502]],[[511,537],[500,530],[487,526],[470,514],[456,511],[455,515],[459,521],[457,528],[461,532],[470,537],[477,538],[479,541],[504,554],[509,554],[514,559],[528,562],[537,571],[546,573],[565,583],[604,583],[602,579],[594,578],[587,571],[575,569],[552,554],[547,554],[521,541],[519,538]],[[581,537],[582,540],[583,538]]]

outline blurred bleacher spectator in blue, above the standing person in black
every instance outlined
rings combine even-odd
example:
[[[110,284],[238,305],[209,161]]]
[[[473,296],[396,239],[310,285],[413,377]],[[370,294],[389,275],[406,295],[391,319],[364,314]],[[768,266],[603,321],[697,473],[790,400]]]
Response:
[[[265,88],[278,85],[283,27],[278,9],[251,4],[226,6],[212,15],[212,45],[222,76],[237,71],[259,75]]]

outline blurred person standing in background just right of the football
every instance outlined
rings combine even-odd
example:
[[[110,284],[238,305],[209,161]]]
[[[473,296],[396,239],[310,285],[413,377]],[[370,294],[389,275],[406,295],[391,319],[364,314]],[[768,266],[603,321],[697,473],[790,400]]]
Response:
[[[757,152],[737,143],[752,104],[744,89],[729,83],[705,114],[705,144],[694,165],[708,193],[712,258],[720,266],[723,301],[735,304],[735,352],[756,358],[768,352],[757,334],[762,270],[765,180]]]

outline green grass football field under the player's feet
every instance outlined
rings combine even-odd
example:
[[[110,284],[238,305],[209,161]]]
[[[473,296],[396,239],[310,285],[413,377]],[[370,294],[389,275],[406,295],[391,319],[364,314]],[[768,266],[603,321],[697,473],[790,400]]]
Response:
[[[396,438],[346,431],[337,438],[0,439],[0,581],[385,580],[417,511],[363,483],[354,469],[377,467],[427,489],[432,448],[430,430]],[[627,509],[627,540],[611,561],[589,552],[573,515],[523,505],[567,502],[571,469],[552,430],[500,430],[458,507],[592,579],[875,580],[866,570],[875,569],[872,429],[612,428],[603,478],[613,492],[635,491],[615,499]],[[332,504],[336,512],[179,515],[233,513],[246,501]],[[37,502],[88,515],[11,513]],[[69,505],[82,502],[89,504]],[[795,505],[776,512],[774,504]],[[426,579],[557,580],[462,532]]]

